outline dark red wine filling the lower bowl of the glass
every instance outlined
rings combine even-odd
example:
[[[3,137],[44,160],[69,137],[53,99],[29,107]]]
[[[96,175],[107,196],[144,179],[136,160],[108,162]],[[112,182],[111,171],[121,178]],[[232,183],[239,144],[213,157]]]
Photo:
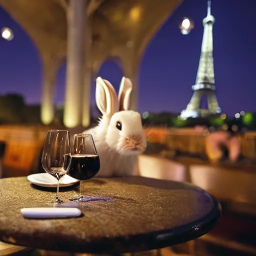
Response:
[[[99,171],[99,157],[96,154],[71,154],[68,175],[79,179],[89,179]]]

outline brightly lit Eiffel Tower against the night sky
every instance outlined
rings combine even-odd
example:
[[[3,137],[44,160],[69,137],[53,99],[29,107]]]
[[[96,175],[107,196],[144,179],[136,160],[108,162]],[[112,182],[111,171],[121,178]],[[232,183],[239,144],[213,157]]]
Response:
[[[221,112],[215,94],[215,79],[213,68],[213,43],[212,28],[215,18],[210,13],[210,0],[208,0],[207,16],[202,20],[203,36],[201,44],[201,55],[197,69],[195,84],[192,85],[193,95],[180,113],[181,118],[204,117],[210,114]],[[207,109],[201,109],[201,99],[203,95],[207,97]]]

